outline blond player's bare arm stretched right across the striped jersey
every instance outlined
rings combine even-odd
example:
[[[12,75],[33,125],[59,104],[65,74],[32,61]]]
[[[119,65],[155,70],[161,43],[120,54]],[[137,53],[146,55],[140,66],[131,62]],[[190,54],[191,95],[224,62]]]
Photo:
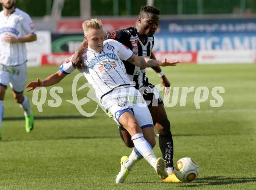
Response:
[[[180,63],[179,60],[168,62],[166,59],[164,62],[160,62],[159,60],[141,58],[135,54],[131,55],[127,61],[139,67],[176,66],[176,64]]]

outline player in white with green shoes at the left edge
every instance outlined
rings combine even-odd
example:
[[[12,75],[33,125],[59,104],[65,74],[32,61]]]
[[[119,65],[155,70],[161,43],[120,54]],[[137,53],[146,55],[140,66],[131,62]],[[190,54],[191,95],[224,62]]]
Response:
[[[27,83],[27,51],[25,42],[37,40],[33,21],[27,13],[15,8],[16,0],[0,0],[0,139],[3,117],[3,99],[10,84],[13,97],[24,110],[26,131],[34,126],[34,116],[27,96],[23,95]]]

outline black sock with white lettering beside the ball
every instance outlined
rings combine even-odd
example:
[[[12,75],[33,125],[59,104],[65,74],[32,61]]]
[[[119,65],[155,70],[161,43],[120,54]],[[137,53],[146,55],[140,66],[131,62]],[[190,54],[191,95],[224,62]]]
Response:
[[[159,146],[165,159],[166,167],[173,167],[173,141],[172,133],[159,134]]]

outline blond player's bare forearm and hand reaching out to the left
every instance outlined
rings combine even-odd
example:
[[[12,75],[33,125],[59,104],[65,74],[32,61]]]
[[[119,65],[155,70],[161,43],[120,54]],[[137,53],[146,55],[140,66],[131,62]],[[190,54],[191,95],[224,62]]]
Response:
[[[29,84],[27,84],[27,92],[37,88],[37,87],[49,87],[51,85],[59,83],[64,77],[66,77],[67,74],[62,73],[61,71],[57,71],[54,74],[51,74],[45,80],[41,81],[39,78],[37,78],[37,81],[33,81]]]

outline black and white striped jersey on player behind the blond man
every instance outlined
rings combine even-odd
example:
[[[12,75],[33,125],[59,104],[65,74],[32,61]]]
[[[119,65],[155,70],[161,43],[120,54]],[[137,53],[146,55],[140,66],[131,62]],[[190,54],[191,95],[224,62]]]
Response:
[[[143,43],[137,34],[135,27],[129,27],[118,31],[106,32],[106,37],[119,41],[127,46],[134,54],[150,58],[152,48],[154,45],[154,37],[147,37],[147,41]],[[129,62],[124,61],[127,74],[131,81],[134,81],[135,88],[141,88],[148,85],[148,79],[145,73],[145,68],[135,66]]]

